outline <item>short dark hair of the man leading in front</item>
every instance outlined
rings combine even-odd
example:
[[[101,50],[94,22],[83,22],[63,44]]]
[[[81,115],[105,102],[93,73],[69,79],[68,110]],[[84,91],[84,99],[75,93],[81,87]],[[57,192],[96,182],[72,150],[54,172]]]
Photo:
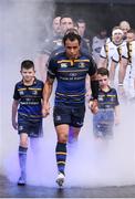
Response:
[[[81,36],[74,32],[69,32],[68,34],[65,34],[63,36],[63,43],[65,45],[65,42],[66,40],[70,40],[70,41],[74,41],[74,40],[77,40],[79,41],[79,44],[81,44]]]

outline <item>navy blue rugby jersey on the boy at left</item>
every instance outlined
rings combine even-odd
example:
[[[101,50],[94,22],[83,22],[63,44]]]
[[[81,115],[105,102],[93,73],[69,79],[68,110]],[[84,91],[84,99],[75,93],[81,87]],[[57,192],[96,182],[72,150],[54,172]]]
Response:
[[[43,82],[34,80],[33,84],[27,86],[23,81],[18,82],[14,87],[13,98],[19,101],[18,114],[27,116],[30,121],[39,121],[42,117],[41,101],[43,97]]]

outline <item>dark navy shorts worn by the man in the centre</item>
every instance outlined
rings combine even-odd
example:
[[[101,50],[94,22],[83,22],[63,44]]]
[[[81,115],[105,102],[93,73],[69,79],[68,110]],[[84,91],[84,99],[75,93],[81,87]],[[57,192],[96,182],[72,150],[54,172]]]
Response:
[[[82,127],[85,115],[85,105],[70,107],[66,105],[54,106],[53,109],[53,122],[54,126],[61,124],[69,124],[73,127]]]

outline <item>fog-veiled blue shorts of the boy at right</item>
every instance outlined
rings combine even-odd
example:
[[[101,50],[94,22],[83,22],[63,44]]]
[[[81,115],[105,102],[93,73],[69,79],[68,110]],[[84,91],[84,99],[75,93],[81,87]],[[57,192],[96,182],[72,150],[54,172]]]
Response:
[[[112,137],[114,127],[114,111],[100,109],[93,116],[93,133],[95,137]]]

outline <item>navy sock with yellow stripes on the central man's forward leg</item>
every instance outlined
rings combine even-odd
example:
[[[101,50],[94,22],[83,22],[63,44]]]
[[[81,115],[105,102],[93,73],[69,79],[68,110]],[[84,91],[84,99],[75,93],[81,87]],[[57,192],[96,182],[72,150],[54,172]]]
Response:
[[[55,148],[56,164],[59,172],[64,175],[65,161],[66,161],[66,144],[58,143]]]

